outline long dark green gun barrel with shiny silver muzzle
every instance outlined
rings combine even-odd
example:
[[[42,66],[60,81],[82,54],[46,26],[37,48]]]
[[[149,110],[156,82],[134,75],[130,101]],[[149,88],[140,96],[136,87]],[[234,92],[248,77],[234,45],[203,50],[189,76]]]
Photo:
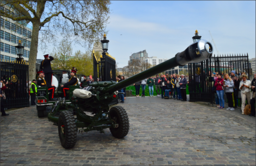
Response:
[[[207,50],[207,48],[209,48],[209,50]],[[198,42],[189,45],[184,51],[177,53],[174,58],[169,59],[143,72],[140,72],[121,82],[118,82],[117,84],[105,87],[103,91],[105,93],[113,93],[117,90],[130,86],[135,82],[148,78],[152,75],[156,75],[170,68],[174,68],[176,66],[184,66],[188,63],[202,62],[206,59],[209,59],[212,55],[212,52],[213,49],[211,43],[202,39]]]

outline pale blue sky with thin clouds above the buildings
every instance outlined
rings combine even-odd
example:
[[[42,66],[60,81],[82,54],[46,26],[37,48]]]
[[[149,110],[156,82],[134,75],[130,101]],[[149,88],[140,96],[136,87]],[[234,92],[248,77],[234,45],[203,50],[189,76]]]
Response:
[[[148,57],[173,58],[193,43],[196,30],[212,45],[213,38],[220,54],[255,58],[255,1],[112,1],[110,9],[106,38],[118,67],[144,49]],[[86,48],[73,44],[76,50]],[[38,50],[37,59],[49,52]]]

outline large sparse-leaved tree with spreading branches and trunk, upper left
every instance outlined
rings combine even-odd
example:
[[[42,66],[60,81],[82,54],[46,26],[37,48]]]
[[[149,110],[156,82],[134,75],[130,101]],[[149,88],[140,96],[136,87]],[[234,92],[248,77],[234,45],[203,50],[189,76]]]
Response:
[[[110,1],[1,1],[1,6],[15,10],[16,15],[2,11],[1,16],[33,24],[29,55],[29,79],[35,77],[38,41],[41,49],[55,44],[59,36],[81,46],[99,41],[108,23]],[[39,40],[38,40],[39,39]]]

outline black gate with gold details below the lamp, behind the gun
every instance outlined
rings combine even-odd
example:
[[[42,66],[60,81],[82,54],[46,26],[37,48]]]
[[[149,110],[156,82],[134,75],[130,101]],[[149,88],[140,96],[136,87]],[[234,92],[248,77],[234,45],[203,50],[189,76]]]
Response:
[[[100,61],[97,59],[93,53],[93,74],[94,80],[99,78],[99,81],[116,81],[116,61],[108,55],[108,53],[102,53]]]

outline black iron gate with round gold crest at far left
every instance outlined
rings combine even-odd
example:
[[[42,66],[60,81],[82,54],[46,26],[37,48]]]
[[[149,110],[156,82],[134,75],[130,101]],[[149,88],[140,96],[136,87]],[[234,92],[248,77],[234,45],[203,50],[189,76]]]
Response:
[[[1,62],[1,80],[6,83],[5,109],[29,106],[29,66],[26,62]]]

